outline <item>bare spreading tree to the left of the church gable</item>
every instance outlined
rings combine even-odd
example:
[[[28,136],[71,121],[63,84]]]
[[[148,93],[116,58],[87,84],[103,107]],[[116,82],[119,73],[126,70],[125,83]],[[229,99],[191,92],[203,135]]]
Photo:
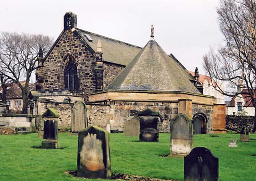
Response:
[[[22,112],[27,113],[28,85],[38,66],[38,52],[48,52],[53,44],[49,36],[1,32],[0,76],[5,76],[22,90]],[[25,84],[20,84],[25,80]]]

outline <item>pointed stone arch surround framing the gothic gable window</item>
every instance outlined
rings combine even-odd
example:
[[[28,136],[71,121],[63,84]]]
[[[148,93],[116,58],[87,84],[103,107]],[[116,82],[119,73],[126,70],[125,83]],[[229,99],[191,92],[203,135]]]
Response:
[[[65,89],[65,82],[64,82],[64,71],[65,71],[65,68],[68,64],[68,62],[70,62],[70,60],[72,60],[72,62],[74,62],[74,64],[76,65],[76,68],[77,68],[77,77],[78,77],[78,89],[79,89],[79,71],[78,71],[78,63],[76,62],[76,59],[72,56],[72,54],[68,53],[64,56],[64,58],[62,59],[61,61],[61,64],[60,64],[60,72],[59,72],[59,76],[60,76],[60,86],[59,88],[60,89]]]

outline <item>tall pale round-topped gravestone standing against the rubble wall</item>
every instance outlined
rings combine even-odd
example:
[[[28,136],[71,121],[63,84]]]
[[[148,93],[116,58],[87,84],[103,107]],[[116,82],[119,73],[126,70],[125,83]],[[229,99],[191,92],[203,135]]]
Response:
[[[71,110],[72,110],[71,131],[78,133],[80,130],[87,127],[86,107],[84,102],[75,101],[72,104]]]

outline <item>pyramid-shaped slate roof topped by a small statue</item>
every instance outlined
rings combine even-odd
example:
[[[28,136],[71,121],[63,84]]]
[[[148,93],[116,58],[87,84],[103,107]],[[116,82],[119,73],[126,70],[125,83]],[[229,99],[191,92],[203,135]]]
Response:
[[[186,70],[150,40],[106,90],[200,92]]]

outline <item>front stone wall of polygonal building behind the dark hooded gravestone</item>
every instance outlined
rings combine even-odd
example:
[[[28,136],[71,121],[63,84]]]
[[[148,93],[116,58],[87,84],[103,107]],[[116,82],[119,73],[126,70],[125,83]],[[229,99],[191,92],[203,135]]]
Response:
[[[123,131],[126,118],[132,113],[142,111],[146,108],[160,112],[163,117],[163,122],[159,123],[159,131],[170,132],[169,120],[178,113],[178,103],[176,102],[112,101],[110,102],[111,128]]]

